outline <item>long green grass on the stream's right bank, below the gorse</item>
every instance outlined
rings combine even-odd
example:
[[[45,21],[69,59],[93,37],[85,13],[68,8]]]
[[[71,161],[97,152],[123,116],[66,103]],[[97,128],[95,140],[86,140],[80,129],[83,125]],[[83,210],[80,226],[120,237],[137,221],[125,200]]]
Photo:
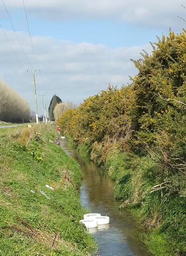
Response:
[[[143,228],[142,241],[149,252],[156,256],[183,256],[186,199],[174,193],[171,184],[153,188],[160,176],[156,163],[157,159],[150,156],[115,152],[108,157],[105,168],[116,182],[115,197],[123,201],[120,208],[128,209]]]

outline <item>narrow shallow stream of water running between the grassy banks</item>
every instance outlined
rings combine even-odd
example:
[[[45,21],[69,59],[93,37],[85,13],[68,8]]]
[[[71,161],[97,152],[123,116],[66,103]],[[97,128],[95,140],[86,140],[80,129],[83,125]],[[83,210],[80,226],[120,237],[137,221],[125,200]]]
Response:
[[[82,205],[90,212],[110,217],[105,229],[92,229],[92,235],[98,243],[99,256],[149,256],[139,240],[139,230],[125,210],[119,209],[114,199],[114,183],[87,157],[82,157],[68,145],[68,139],[61,146],[82,168],[84,178],[81,186]],[[82,216],[83,219],[83,216]],[[91,230],[91,229],[90,229]]]

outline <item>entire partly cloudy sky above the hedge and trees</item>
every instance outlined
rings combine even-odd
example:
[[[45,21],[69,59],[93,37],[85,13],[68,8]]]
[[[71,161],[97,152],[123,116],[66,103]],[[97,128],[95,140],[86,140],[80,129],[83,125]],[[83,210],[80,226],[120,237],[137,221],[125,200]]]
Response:
[[[85,99],[130,83],[130,59],[150,42],[185,29],[186,0],[1,0],[0,80],[38,115],[53,95]],[[43,98],[43,103],[42,103]]]

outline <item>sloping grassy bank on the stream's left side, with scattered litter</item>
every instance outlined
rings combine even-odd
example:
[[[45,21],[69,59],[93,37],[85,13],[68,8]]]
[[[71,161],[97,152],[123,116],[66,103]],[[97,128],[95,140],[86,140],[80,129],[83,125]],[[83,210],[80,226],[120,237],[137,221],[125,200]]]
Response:
[[[82,173],[52,143],[54,127],[0,130],[1,255],[90,255],[95,244],[79,220]],[[46,187],[49,185],[54,190]]]

